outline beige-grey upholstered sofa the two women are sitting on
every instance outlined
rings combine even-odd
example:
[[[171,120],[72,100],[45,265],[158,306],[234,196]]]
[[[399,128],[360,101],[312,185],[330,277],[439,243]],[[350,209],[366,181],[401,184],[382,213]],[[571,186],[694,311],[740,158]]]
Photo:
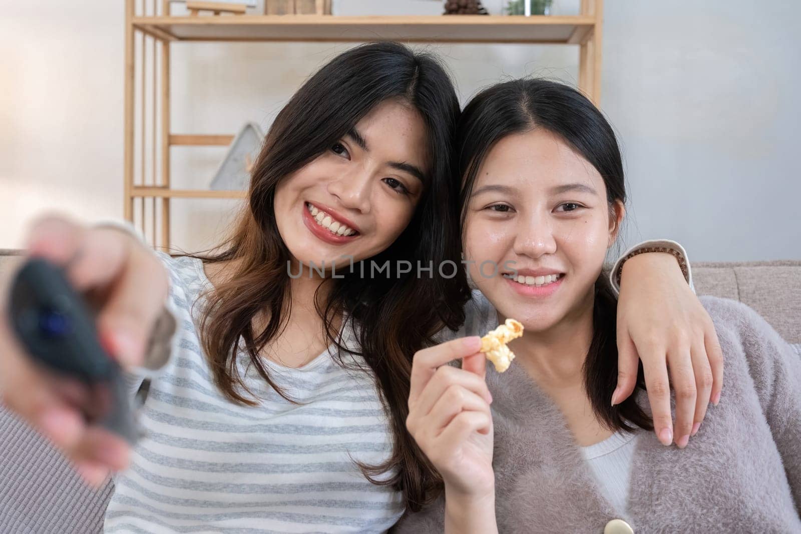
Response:
[[[18,263],[0,250],[0,271]],[[698,295],[740,300],[801,343],[801,261],[696,263]],[[0,532],[100,532],[113,484],[92,491],[22,421],[0,408]]]

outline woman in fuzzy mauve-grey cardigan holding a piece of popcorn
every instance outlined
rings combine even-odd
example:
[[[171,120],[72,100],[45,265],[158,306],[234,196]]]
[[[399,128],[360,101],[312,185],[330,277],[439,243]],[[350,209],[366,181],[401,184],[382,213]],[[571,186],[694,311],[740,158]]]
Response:
[[[647,432],[642,368],[634,395],[609,402],[616,301],[602,267],[626,191],[598,109],[517,80],[474,98],[460,132],[474,301],[484,331],[513,318],[525,332],[503,374],[477,337],[415,355],[407,427],[444,493],[396,532],[801,532],[801,359],[750,308],[702,299],[726,374],[689,445]],[[488,278],[487,260],[517,272]]]

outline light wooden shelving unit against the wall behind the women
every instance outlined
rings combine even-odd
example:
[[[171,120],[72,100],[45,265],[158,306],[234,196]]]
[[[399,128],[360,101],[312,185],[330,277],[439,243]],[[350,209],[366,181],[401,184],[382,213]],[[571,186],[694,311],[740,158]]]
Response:
[[[594,102],[601,94],[602,0],[582,0],[574,16],[201,15],[171,16],[167,0],[126,0],[124,215],[150,228],[154,247],[169,247],[171,199],[241,199],[244,191],[175,190],[170,185],[172,147],[224,147],[232,135],[173,134],[170,125],[170,49],[181,42],[460,42],[563,44],[579,48],[578,85]],[[141,42],[136,54],[136,40]],[[145,42],[152,54],[146,54]],[[148,57],[148,55],[150,57]],[[145,73],[151,72],[147,89]],[[140,82],[136,73],[139,71]],[[148,100],[149,99],[149,100]],[[136,117],[139,102],[139,117]],[[150,103],[150,106],[146,105]],[[149,116],[146,110],[150,110]],[[139,121],[139,122],[137,122]],[[136,125],[139,123],[139,134]],[[145,132],[151,132],[147,143]],[[135,139],[135,138],[139,139]],[[149,146],[147,146],[149,145]],[[145,155],[151,155],[146,166]],[[135,173],[135,161],[141,162]],[[159,165],[157,165],[157,162]],[[147,169],[146,167],[150,167]],[[135,176],[138,174],[139,176]],[[144,203],[151,203],[151,224]],[[160,214],[160,217],[159,215]]]

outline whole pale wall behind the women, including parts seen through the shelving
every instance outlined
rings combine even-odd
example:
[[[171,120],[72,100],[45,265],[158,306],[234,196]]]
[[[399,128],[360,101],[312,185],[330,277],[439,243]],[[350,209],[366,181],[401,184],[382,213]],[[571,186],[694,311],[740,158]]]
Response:
[[[627,240],[678,239],[694,260],[801,258],[801,3],[605,3],[602,108],[626,158]],[[556,0],[558,13],[577,6]],[[441,12],[431,0],[337,6],[382,9]],[[26,224],[48,207],[121,217],[123,2],[0,0],[0,13],[0,247],[21,246]],[[266,129],[300,83],[348,46],[175,44],[172,130],[234,133],[249,120]],[[573,47],[428,48],[446,58],[463,102],[499,78],[577,77]],[[207,187],[223,153],[174,148],[174,186]],[[236,206],[175,200],[175,244],[211,245]]]

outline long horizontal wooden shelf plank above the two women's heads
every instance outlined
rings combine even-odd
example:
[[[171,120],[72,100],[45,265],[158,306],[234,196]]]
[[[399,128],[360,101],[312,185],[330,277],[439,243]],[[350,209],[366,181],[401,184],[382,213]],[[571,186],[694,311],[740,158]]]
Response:
[[[147,34],[178,41],[568,43],[594,28],[591,16],[237,15],[135,17]]]

